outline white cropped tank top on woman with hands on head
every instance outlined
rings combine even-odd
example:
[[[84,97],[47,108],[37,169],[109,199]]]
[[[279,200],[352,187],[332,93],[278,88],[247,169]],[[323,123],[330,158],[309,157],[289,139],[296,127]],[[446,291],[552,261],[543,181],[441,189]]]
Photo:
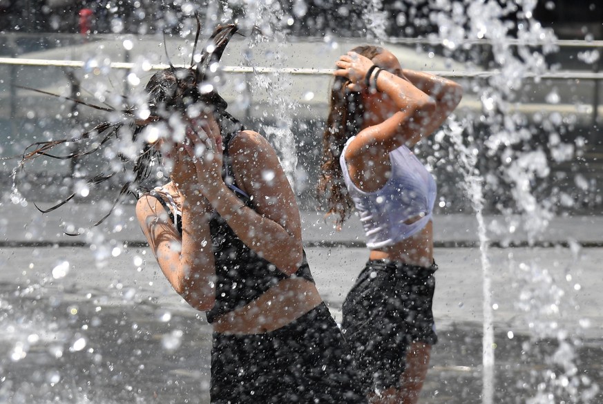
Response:
[[[400,146],[390,152],[392,173],[385,185],[378,191],[361,191],[352,182],[345,164],[345,150],[352,139],[347,140],[339,163],[347,191],[360,215],[367,247],[392,245],[421,231],[433,213],[437,193],[434,177],[408,147]],[[420,219],[405,224],[416,217]]]

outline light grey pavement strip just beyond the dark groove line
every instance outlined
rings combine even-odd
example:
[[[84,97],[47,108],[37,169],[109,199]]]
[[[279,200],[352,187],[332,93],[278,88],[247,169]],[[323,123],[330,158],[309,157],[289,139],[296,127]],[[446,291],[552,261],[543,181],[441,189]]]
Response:
[[[48,204],[42,204],[42,208]],[[56,211],[42,214],[32,202],[26,206],[0,202],[0,243],[58,242],[77,244],[90,242],[86,237],[70,237],[63,229],[85,231],[92,223],[102,218],[109,209],[108,202],[96,204],[68,203]],[[122,204],[97,228],[99,234],[118,241],[144,242],[138,224],[133,217],[134,206]],[[335,231],[332,223],[325,221],[323,213],[302,211],[303,239],[306,244],[364,245],[363,231],[354,217],[350,218],[341,231]],[[554,217],[543,231],[533,238],[522,226],[520,217],[487,216],[486,235],[497,246],[521,246],[532,242],[535,245],[584,244],[586,247],[603,247],[603,216]],[[2,237],[3,235],[3,237]],[[475,215],[436,215],[434,217],[434,240],[441,247],[477,246],[478,224]]]

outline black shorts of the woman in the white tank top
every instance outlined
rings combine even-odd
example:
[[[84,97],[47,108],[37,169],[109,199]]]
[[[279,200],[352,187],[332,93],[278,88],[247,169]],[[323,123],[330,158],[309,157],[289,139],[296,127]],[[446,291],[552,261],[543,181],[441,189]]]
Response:
[[[400,388],[406,350],[437,343],[432,313],[437,265],[370,260],[343,302],[343,333],[367,391]]]

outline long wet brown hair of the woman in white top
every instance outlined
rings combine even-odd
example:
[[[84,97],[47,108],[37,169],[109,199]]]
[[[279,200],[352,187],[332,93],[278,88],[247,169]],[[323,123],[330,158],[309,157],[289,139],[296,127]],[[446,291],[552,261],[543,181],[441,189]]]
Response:
[[[383,48],[363,45],[352,51],[373,59],[383,52]],[[354,209],[343,181],[339,156],[345,142],[360,131],[364,115],[360,93],[347,88],[348,84],[350,81],[346,77],[337,76],[331,87],[331,107],[323,133],[323,164],[316,187],[318,200],[326,205],[327,215],[336,215],[337,226],[341,226]]]

